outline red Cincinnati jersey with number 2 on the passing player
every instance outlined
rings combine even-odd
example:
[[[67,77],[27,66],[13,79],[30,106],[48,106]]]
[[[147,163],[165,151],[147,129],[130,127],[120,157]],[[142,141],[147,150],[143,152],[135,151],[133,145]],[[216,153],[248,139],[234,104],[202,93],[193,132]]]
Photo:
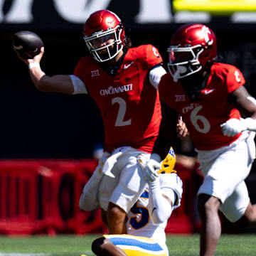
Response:
[[[109,75],[91,57],[80,59],[78,76],[100,108],[105,127],[105,150],[132,146],[151,153],[159,133],[159,92],[149,83],[149,70],[162,62],[151,45],[129,48],[121,67]]]

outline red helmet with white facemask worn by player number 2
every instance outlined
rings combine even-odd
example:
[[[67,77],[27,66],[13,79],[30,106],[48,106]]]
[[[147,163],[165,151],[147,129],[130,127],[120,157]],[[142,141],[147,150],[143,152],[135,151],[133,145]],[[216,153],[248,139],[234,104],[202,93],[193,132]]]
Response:
[[[95,60],[114,58],[125,45],[124,26],[112,11],[95,11],[84,25],[84,39]]]

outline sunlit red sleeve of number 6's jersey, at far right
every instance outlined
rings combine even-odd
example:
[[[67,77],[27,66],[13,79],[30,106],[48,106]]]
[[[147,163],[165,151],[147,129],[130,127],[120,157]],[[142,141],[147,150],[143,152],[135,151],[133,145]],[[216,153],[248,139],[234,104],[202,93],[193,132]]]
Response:
[[[241,71],[235,66],[230,65],[227,73],[227,86],[228,86],[228,93],[233,92],[234,90],[238,89],[242,85],[245,84],[245,78],[242,75]]]

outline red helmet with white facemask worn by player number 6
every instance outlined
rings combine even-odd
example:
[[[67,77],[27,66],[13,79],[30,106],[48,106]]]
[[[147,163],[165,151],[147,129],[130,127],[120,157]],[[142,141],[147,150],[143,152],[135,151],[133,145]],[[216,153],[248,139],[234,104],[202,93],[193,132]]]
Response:
[[[168,69],[177,82],[213,63],[217,56],[216,36],[203,24],[188,24],[178,28],[167,49]]]

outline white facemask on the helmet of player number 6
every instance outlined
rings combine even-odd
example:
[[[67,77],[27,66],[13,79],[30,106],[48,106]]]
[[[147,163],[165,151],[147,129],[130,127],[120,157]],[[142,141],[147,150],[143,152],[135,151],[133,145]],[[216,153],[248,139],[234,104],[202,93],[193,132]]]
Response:
[[[177,82],[180,78],[186,78],[200,71],[203,67],[199,61],[199,56],[203,53],[204,48],[201,45],[191,47],[169,46],[169,63],[167,67],[169,73]]]

